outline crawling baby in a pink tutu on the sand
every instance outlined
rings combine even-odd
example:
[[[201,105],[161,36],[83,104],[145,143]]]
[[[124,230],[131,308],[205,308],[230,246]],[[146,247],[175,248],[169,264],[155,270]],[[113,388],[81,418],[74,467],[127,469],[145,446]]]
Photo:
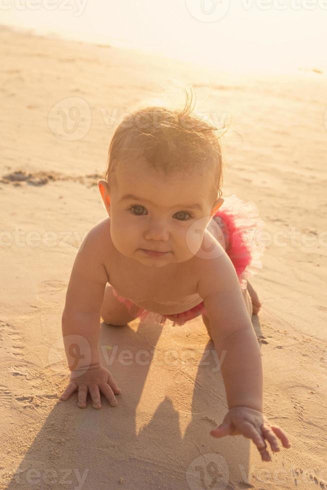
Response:
[[[219,359],[224,352],[229,408],[210,434],[242,434],[269,461],[265,439],[272,451],[279,451],[278,438],[290,444],[262,413],[261,355],[251,323],[260,302],[244,279],[251,254],[240,228],[232,213],[218,211],[224,199],[216,130],[192,112],[187,93],[182,110],[139,107],[116,128],[106,178],[98,181],[108,217],[82,241],[67,287],[62,334],[71,373],[60,399],[77,390],[85,407],[89,392],[100,408],[101,392],[117,404],[120,389],[99,361],[100,316],[125,325],[151,312],[160,323],[182,324],[202,314]]]

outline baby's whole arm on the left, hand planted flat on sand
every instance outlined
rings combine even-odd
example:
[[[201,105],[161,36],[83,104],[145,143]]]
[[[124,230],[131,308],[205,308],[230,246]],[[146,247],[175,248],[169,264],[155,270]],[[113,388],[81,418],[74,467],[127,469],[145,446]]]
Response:
[[[86,406],[87,390],[94,408],[100,408],[100,393],[116,404],[119,393],[110,372],[99,363],[100,309],[108,276],[101,260],[105,227],[100,222],[85,236],[76,254],[61,317],[62,336],[70,382],[61,395],[69,398],[78,389],[78,406]]]

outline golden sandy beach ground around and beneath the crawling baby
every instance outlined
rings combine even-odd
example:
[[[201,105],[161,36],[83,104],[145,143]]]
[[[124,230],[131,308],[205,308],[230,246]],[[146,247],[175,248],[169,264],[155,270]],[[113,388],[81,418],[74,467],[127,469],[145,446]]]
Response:
[[[0,41],[0,487],[326,488],[326,75],[204,71],[4,28]],[[200,317],[183,326],[101,323],[118,406],[102,398],[101,410],[79,409],[76,394],[58,402],[69,376],[67,281],[83,236],[105,217],[96,182],[114,130],[107,116],[168,76],[208,83],[211,110],[232,114],[241,138],[226,143],[223,192],[255,202],[270,237],[251,281],[263,303],[252,322],[264,412],[292,447],[269,463],[248,439],[209,435],[226,400]],[[70,97],[91,114],[78,139],[69,121],[55,129],[55,104]]]

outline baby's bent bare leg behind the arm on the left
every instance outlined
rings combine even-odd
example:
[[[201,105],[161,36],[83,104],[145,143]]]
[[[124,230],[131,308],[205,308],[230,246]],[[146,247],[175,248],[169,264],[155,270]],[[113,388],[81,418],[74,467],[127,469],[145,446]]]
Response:
[[[112,286],[108,282],[105,285],[100,315],[105,323],[116,326],[126,325],[137,317],[136,314],[131,314],[126,306],[113,295]]]

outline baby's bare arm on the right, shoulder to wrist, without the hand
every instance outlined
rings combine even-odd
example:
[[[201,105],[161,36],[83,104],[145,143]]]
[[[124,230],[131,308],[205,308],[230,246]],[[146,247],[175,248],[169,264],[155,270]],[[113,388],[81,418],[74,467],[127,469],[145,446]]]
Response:
[[[261,354],[234,266],[227,254],[211,265],[199,294],[210,323],[228,407],[246,405],[262,411]],[[205,285],[204,285],[205,284]],[[202,295],[203,294],[203,295]]]

